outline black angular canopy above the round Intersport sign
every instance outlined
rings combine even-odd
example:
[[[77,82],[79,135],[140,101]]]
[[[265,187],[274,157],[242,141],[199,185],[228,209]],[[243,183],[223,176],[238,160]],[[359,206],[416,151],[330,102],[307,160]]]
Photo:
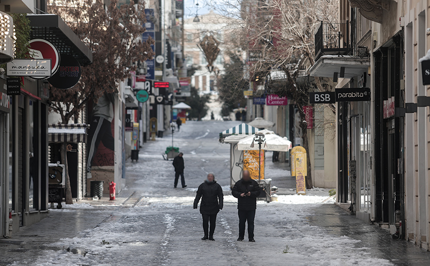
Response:
[[[54,14],[27,15],[31,39],[44,39],[54,44],[60,53],[75,57],[82,66],[93,62],[93,53],[79,37]]]

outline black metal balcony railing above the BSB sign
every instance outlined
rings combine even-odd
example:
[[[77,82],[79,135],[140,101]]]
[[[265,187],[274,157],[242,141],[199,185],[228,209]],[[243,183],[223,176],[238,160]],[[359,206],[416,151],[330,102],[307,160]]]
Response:
[[[315,60],[323,54],[346,55],[351,51],[349,23],[321,22],[315,34]]]

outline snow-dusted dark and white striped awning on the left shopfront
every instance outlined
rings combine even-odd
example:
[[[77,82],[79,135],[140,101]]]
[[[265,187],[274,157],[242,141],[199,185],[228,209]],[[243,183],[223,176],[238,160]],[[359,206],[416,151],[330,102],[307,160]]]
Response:
[[[49,124],[49,142],[80,143],[87,141],[86,124]]]

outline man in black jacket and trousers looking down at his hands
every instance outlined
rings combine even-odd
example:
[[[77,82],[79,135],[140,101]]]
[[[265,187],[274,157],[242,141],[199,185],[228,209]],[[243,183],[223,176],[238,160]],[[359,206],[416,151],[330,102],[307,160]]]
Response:
[[[254,219],[255,210],[257,209],[257,197],[260,196],[260,186],[256,180],[251,179],[249,171],[242,173],[242,179],[234,184],[231,194],[237,198],[237,213],[239,215],[239,238],[242,241],[245,238],[245,223],[248,221],[248,238],[249,242],[254,240]]]

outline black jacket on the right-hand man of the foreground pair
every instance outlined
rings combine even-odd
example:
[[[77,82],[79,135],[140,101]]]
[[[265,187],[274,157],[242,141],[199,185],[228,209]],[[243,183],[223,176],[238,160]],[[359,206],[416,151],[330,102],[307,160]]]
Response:
[[[251,196],[240,196],[240,194],[246,194],[248,192],[251,192]],[[237,209],[244,211],[257,209],[257,197],[260,196],[260,193],[260,186],[254,179],[249,181],[240,179],[234,184],[233,189],[231,190],[233,197],[237,198]]]

